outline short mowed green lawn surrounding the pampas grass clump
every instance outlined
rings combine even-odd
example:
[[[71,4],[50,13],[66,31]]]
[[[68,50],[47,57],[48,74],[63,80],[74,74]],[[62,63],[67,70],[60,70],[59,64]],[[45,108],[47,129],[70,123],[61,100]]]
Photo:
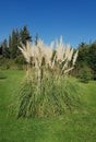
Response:
[[[96,82],[80,83],[81,108],[56,118],[16,119],[9,115],[23,71],[0,80],[0,142],[96,142]],[[51,107],[51,106],[50,106]]]

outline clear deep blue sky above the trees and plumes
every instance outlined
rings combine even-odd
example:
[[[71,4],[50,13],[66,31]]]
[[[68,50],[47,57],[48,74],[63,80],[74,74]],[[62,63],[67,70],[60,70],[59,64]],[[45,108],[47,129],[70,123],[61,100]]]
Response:
[[[96,0],[0,0],[0,42],[26,24],[46,44],[96,40]]]

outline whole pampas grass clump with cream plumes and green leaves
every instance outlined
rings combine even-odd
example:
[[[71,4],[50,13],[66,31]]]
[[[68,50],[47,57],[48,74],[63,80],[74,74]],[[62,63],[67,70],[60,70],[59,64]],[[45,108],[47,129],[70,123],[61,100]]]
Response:
[[[55,42],[47,47],[40,39],[19,47],[28,63],[28,70],[19,93],[17,118],[50,117],[79,106],[75,83],[68,73],[74,69],[77,51],[70,45]]]

